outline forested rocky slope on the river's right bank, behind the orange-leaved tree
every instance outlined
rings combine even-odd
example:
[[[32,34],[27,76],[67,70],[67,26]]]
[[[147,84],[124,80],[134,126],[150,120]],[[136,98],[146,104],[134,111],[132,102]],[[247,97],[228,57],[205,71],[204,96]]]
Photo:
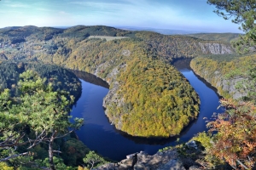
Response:
[[[254,100],[256,54],[205,55],[192,59],[191,68],[218,89],[224,98]]]

